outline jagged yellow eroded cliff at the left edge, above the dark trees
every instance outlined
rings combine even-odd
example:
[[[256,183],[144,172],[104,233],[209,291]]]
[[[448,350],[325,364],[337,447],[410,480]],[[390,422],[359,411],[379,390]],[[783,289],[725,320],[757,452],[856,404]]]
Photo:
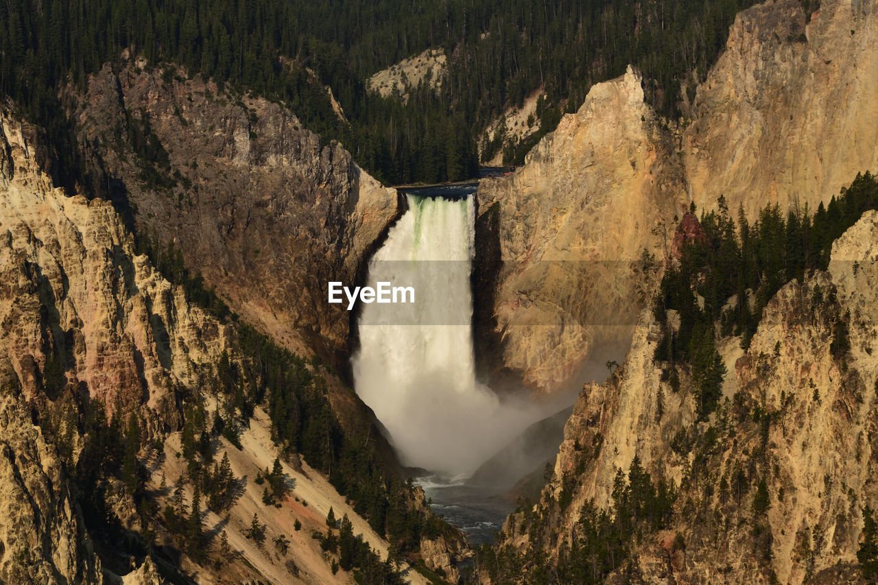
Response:
[[[3,113],[0,130],[0,346],[25,396],[48,392],[54,357],[109,413],[143,405],[148,421],[176,427],[176,391],[213,367],[226,327],[134,254],[109,202],[52,188],[27,126]]]

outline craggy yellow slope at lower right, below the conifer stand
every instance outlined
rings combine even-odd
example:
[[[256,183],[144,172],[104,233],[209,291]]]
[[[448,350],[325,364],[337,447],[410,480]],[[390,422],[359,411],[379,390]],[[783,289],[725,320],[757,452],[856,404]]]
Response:
[[[652,359],[653,317],[641,314],[624,364],[580,394],[550,484],[510,517],[502,543],[568,550],[583,504],[617,505],[616,470],[637,457],[653,480],[677,486],[677,513],[634,538],[618,582],[855,580],[861,510],[878,503],[876,289],[872,211],[835,242],[828,271],[781,288],[743,355],[738,338],[719,346],[733,364],[723,405],[697,422],[687,370],[675,391],[667,364]]]

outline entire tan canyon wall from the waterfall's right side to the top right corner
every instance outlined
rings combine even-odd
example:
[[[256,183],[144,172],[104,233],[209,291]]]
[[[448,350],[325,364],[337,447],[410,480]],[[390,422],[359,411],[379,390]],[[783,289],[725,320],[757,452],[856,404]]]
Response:
[[[483,180],[477,240],[499,252],[479,266],[493,279],[481,348],[555,392],[594,350],[630,340],[630,328],[594,326],[635,321],[639,276],[624,264],[644,248],[666,256],[690,202],[700,213],[723,195],[750,220],[769,203],[813,213],[878,170],[876,7],[828,0],[806,14],[779,0],[742,11],[691,118],[657,120],[629,71],[594,85],[515,174]]]

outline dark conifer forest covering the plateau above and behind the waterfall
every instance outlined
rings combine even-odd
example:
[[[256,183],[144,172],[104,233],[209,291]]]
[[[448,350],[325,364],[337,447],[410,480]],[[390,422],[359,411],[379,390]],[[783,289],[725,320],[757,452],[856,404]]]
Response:
[[[629,63],[643,70],[651,104],[675,119],[681,92],[694,97],[734,15],[749,4],[10,0],[0,4],[0,92],[47,129],[55,179],[68,186],[86,177],[59,88],[83,85],[128,47],[151,65],[173,61],[284,102],[387,183],[456,180],[476,172],[480,134],[507,107],[538,89],[546,95],[537,105],[541,130],[505,152],[515,162],[593,83]],[[441,90],[421,87],[405,104],[367,92],[371,74],[428,47],[449,56]],[[325,85],[349,122],[336,116]]]

